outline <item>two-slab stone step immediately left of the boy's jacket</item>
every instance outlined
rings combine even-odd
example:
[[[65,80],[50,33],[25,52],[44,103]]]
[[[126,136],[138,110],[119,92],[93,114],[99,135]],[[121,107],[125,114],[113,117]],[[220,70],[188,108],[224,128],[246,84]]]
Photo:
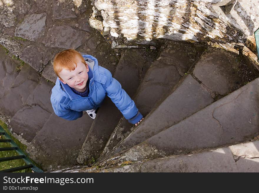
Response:
[[[53,84],[44,78],[27,98],[24,107],[18,110],[9,125],[13,132],[31,142],[53,112],[50,102]]]

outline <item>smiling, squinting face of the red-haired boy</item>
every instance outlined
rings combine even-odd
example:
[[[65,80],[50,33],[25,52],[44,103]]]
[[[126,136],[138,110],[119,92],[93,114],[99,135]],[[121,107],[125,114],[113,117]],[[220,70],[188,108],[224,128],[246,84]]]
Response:
[[[59,80],[82,93],[86,90],[89,68],[88,65],[85,66],[80,60],[77,61],[77,67],[73,71],[63,69],[59,73],[60,78],[62,78],[62,80]]]

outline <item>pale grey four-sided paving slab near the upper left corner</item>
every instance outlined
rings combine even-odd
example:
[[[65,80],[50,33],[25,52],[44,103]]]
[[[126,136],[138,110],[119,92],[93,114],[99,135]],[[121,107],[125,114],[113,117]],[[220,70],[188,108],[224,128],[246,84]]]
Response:
[[[44,33],[46,17],[46,13],[26,16],[24,21],[15,28],[14,35],[36,41]]]

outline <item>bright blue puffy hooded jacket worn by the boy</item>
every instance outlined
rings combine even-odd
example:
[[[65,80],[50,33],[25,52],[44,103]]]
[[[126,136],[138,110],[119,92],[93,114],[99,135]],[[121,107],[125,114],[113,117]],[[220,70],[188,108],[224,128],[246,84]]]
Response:
[[[76,120],[82,117],[84,110],[98,108],[105,96],[121,111],[122,115],[132,124],[139,122],[143,116],[138,111],[134,101],[121,88],[121,84],[106,68],[98,66],[98,61],[91,55],[82,55],[89,65],[89,95],[82,97],[74,93],[69,85],[63,84],[57,78],[52,88],[51,103],[57,116],[66,120]]]

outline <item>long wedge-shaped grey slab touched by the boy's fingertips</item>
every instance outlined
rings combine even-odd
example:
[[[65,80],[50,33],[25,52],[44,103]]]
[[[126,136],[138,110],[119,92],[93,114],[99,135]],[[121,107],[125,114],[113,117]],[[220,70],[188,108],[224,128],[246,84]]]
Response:
[[[213,103],[210,93],[189,74],[182,83],[143,120],[116,148],[115,152],[132,147],[175,125]],[[157,121],[159,120],[159,121]]]

